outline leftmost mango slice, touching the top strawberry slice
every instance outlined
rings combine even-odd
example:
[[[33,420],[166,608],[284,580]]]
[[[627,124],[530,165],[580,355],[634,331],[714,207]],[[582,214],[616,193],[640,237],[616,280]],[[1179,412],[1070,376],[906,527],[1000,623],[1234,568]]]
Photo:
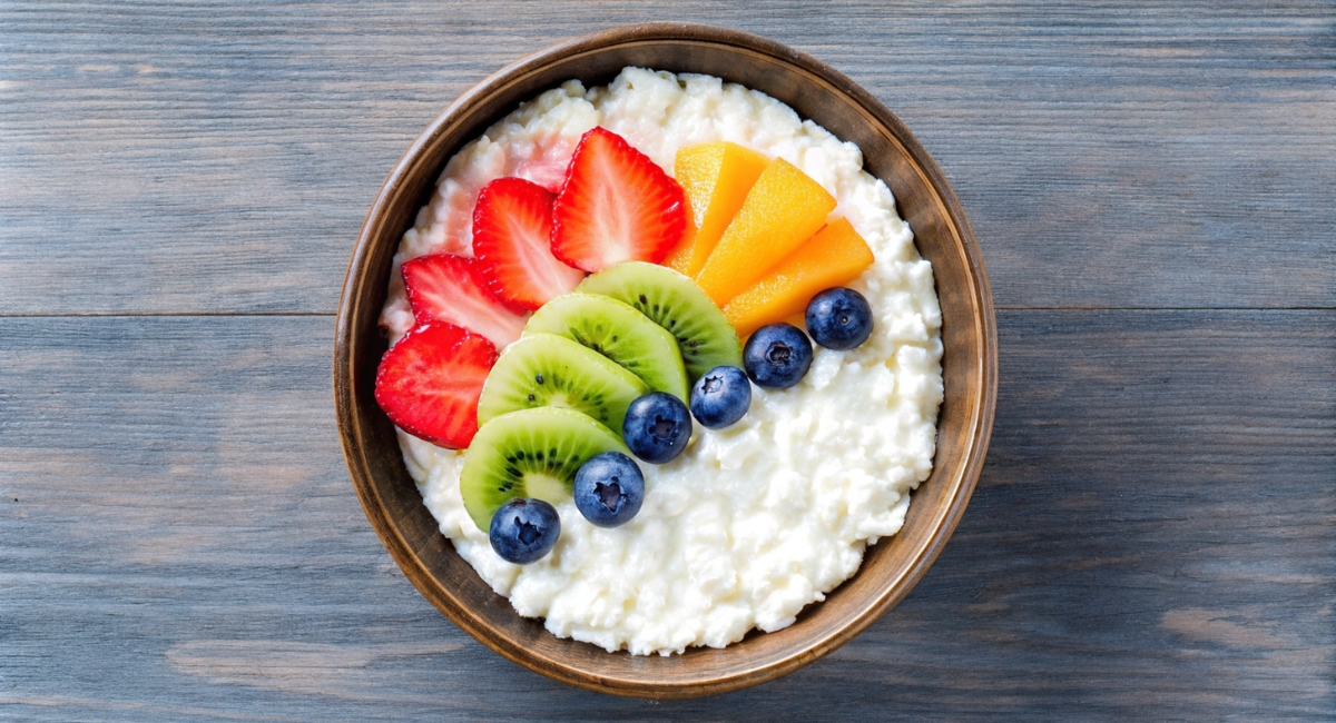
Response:
[[[691,231],[664,265],[695,276],[747,200],[747,192],[770,159],[727,140],[687,145],[677,151],[673,175],[691,205]]]

